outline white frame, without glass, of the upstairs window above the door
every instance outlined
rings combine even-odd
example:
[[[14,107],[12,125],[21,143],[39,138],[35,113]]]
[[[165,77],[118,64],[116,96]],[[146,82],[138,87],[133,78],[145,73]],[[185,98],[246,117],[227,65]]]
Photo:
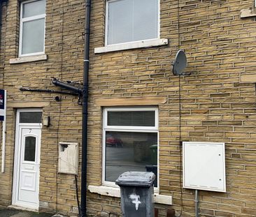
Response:
[[[23,33],[23,23],[32,21],[32,20],[39,20],[46,17],[46,14],[41,14],[41,15],[34,15],[31,17],[26,17],[22,18],[23,14],[23,5],[24,3],[31,3],[33,1],[38,1],[38,0],[30,0],[30,1],[22,1],[20,3],[20,40],[19,40],[19,57],[29,57],[29,56],[34,56],[34,55],[40,55],[40,54],[45,54],[45,26],[44,26],[44,35],[43,35],[43,51],[42,52],[34,52],[34,53],[29,53],[29,54],[22,54],[22,33]],[[40,0],[39,0],[40,1]],[[46,10],[46,8],[45,8]]]

